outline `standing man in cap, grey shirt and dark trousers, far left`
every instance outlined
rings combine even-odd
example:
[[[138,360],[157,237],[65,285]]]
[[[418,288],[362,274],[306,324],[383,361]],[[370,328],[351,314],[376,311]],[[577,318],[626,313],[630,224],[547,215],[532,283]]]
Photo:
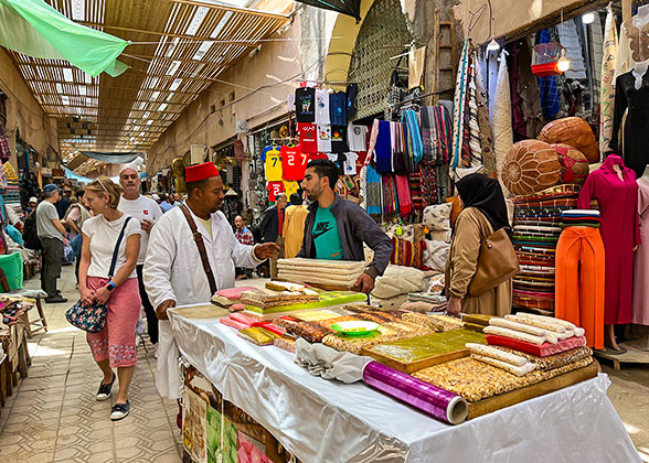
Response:
[[[43,186],[43,201],[36,207],[36,234],[43,245],[41,289],[47,293],[45,302],[51,304],[67,302],[67,299],[63,298],[61,291],[56,289],[56,279],[61,277],[61,261],[65,241],[65,227],[54,206],[60,197],[58,186],[49,183]]]

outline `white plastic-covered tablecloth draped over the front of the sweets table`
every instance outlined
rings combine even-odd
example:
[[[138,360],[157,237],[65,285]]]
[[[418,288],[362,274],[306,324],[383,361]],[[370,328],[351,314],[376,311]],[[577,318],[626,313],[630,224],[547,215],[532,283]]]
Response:
[[[453,427],[363,383],[313,377],[217,321],[169,314],[185,359],[304,462],[640,462],[606,375]]]

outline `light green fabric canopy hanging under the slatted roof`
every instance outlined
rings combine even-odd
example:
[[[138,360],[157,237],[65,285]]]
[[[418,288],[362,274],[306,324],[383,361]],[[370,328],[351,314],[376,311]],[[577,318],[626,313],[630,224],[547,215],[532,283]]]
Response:
[[[117,61],[129,42],[86,28],[41,0],[0,0],[0,45],[25,55],[67,60],[84,73],[113,77],[128,66]]]

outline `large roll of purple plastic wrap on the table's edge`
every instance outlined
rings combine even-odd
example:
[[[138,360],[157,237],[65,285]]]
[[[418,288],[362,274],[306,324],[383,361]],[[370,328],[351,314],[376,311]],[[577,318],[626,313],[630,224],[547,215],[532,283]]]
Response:
[[[467,419],[469,409],[466,400],[460,396],[377,362],[365,365],[363,380],[440,421],[459,424]]]

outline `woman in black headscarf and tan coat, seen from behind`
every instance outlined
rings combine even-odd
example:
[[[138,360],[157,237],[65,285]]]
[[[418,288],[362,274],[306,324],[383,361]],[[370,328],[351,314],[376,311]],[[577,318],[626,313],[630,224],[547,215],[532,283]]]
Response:
[[[506,315],[511,312],[512,283],[507,280],[479,295],[468,288],[478,265],[480,244],[500,228],[510,230],[507,205],[497,180],[474,173],[456,183],[464,209],[458,215],[446,262],[448,312]]]

